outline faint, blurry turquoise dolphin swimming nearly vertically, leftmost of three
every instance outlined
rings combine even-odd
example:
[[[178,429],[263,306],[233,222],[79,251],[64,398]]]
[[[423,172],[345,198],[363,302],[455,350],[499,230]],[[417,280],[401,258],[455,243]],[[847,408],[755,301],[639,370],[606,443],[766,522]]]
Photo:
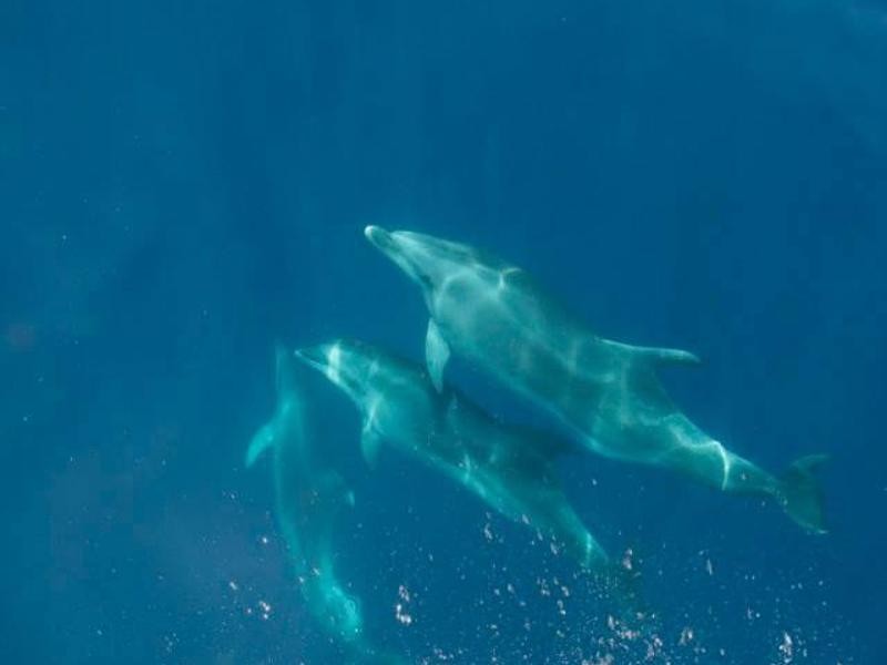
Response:
[[[246,451],[251,467],[266,449],[274,451],[276,516],[305,603],[315,620],[344,647],[350,663],[396,665],[399,657],[377,651],[364,636],[359,600],[336,574],[337,525],[354,504],[341,475],[318,454],[306,423],[304,395],[292,352],[275,352],[277,407]]]

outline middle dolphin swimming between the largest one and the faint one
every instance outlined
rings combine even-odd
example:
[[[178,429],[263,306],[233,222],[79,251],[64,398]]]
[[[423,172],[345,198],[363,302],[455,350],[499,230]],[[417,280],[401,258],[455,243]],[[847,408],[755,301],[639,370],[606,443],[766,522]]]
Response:
[[[296,355],[338,386],[363,417],[371,462],[381,442],[419,459],[503,515],[551,539],[583,567],[620,583],[618,566],[573,511],[552,469],[563,442],[497,422],[456,390],[435,388],[422,369],[377,347],[339,339]]]

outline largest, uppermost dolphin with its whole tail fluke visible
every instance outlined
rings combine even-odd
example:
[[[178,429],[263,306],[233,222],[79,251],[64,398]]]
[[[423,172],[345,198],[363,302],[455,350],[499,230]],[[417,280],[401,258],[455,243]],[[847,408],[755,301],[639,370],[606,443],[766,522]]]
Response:
[[[803,528],[824,533],[813,471],[825,456],[773,475],[696,427],[656,377],[695,365],[689,351],[594,335],[522,269],[467,245],[368,226],[369,242],[419,285],[430,314],[428,370],[440,386],[450,350],[553,413],[609,458],[656,464],[725,492],[774,498]]]

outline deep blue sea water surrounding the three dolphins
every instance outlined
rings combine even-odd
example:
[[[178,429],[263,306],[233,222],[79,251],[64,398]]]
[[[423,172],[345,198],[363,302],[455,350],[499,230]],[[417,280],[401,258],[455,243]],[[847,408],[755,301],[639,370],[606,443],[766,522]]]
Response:
[[[577,511],[641,571],[656,620],[636,636],[529,530],[392,450],[370,469],[358,413],[314,376],[369,640],[415,663],[880,662],[887,8],[869,0],[0,2],[3,662],[341,661],[297,591],[269,464],[243,454],[276,340],[421,360],[419,291],[366,224],[485,247],[605,337],[697,352],[663,371],[674,399],[774,472],[832,456],[824,536],[565,458]],[[551,426],[463,360],[448,377]]]

